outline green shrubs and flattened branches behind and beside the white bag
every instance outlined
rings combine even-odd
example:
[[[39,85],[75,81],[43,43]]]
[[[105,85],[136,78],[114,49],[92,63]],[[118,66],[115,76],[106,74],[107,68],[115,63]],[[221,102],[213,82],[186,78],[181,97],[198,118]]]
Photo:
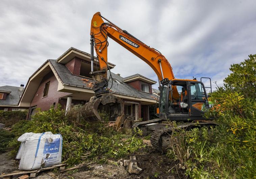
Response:
[[[40,110],[32,120],[23,120],[12,127],[15,138],[9,143],[11,154],[15,156],[20,146],[17,141],[25,132],[60,133],[63,138],[62,160],[68,166],[84,160],[117,158],[127,156],[138,148],[144,147],[141,139],[115,132],[108,123],[89,124],[80,115],[81,106],[76,106],[65,115],[65,111],[51,108]],[[103,114],[104,115],[104,114]],[[106,120],[106,119],[105,119]]]

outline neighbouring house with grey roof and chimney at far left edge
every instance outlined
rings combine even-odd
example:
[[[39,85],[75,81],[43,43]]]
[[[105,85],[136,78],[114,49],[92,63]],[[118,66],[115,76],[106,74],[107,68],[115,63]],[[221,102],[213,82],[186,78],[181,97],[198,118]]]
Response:
[[[22,95],[24,85],[16,86],[0,86],[0,110],[4,111],[25,111],[28,109],[18,107],[20,97]]]

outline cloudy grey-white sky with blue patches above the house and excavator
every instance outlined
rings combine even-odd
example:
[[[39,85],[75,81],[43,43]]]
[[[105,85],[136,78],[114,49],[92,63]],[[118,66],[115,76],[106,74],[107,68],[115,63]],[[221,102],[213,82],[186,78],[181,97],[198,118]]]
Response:
[[[90,52],[97,11],[159,50],[176,78],[210,77],[222,85],[230,64],[256,53],[255,8],[255,0],[1,0],[0,86],[26,84],[47,59],[70,47]],[[108,61],[122,77],[140,73],[157,81],[145,62],[111,39]]]

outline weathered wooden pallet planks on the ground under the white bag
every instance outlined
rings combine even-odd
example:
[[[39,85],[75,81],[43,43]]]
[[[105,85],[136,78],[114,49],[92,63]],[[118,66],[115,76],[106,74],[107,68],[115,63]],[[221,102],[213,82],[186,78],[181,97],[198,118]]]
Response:
[[[36,170],[24,170],[24,171],[18,170],[18,171],[14,171],[12,173],[9,173],[9,174],[2,174],[2,175],[0,175],[0,178],[1,177],[12,178],[12,176],[22,175],[22,174],[30,174],[29,178],[34,178],[40,172],[45,171],[45,170],[51,170],[51,169],[54,169],[54,168],[59,168],[59,170],[64,170],[65,169],[65,167],[64,167],[65,165],[66,165],[65,163],[62,163],[62,164],[54,165],[54,166],[51,166],[51,167],[46,167],[46,168],[36,169]]]

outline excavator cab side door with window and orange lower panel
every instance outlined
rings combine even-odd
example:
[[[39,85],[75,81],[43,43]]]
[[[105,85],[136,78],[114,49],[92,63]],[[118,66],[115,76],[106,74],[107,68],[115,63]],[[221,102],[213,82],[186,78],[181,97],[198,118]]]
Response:
[[[201,82],[189,82],[190,115],[203,115],[209,108],[204,84]]]

